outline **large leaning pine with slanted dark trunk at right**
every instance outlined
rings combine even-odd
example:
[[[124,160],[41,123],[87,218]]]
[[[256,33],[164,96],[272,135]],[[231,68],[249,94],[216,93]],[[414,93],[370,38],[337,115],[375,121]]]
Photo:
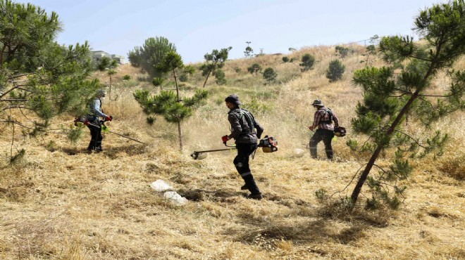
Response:
[[[402,129],[406,117],[426,126],[426,135],[432,122],[465,108],[465,72],[451,69],[454,61],[465,53],[465,5],[463,0],[437,4],[421,11],[415,20],[415,30],[424,41],[414,42],[411,37],[383,37],[379,44],[380,55],[390,67],[366,67],[354,73],[354,83],[364,91],[364,100],[356,107],[357,117],[352,119],[356,133],[370,136],[359,147],[349,141],[353,149],[372,151],[351,195],[356,203],[362,186],[368,181],[372,197],[367,206],[376,207],[385,202],[392,208],[402,202],[405,186],[399,181],[412,170],[407,156],[415,158],[434,152],[442,155],[447,134],[439,130],[426,141]],[[402,65],[398,75],[394,70]],[[435,89],[431,80],[444,71],[450,78],[448,89]],[[447,82],[447,81],[446,81]],[[416,129],[416,131],[420,131]],[[381,152],[395,149],[389,169],[376,164]],[[371,173],[373,167],[378,173]]]

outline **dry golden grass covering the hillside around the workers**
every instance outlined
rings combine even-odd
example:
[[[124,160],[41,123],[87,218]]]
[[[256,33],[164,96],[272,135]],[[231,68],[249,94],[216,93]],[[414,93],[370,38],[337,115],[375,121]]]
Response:
[[[209,100],[182,124],[185,149],[180,152],[177,127],[157,118],[145,122],[132,98],[135,89],[159,89],[144,82],[139,70],[123,65],[113,76],[111,96],[104,111],[113,115],[111,131],[137,138],[142,145],[105,134],[104,152],[85,152],[87,129],[79,143],[63,134],[27,138],[16,131],[16,148],[25,157],[9,165],[11,129],[0,130],[0,259],[465,259],[465,115],[457,112],[433,126],[450,133],[445,155],[412,162],[414,173],[405,184],[407,198],[398,211],[354,212],[319,202],[315,191],[333,194],[329,201],[350,195],[347,187],[365,162],[364,155],[347,148],[361,90],[352,85],[352,72],[364,66],[363,46],[352,53],[340,82],[329,83],[325,70],[336,58],[335,46],[302,48],[316,58],[313,70],[300,72],[298,61],[283,63],[282,55],[230,60],[225,64],[228,84],[209,79]],[[247,67],[260,63],[278,73],[275,84],[265,84]],[[373,60],[373,65],[383,65]],[[457,63],[465,69],[465,59]],[[132,79],[123,81],[129,74]],[[106,74],[97,72],[108,84]],[[199,71],[182,83],[182,95],[192,95],[203,83]],[[438,75],[434,84],[445,86]],[[190,152],[223,148],[228,134],[224,98],[238,93],[244,107],[254,112],[265,133],[278,139],[278,152],[261,150],[251,163],[263,200],[248,200],[240,190],[235,152],[211,153],[192,160]],[[312,160],[306,148],[314,110],[321,98],[349,130],[333,142],[335,161]],[[54,119],[67,128],[73,118]],[[416,125],[409,131],[417,136]],[[13,148],[15,150],[16,148]],[[380,158],[378,164],[387,164]],[[176,206],[149,185],[161,179],[189,200]],[[368,190],[362,190],[363,197]]]

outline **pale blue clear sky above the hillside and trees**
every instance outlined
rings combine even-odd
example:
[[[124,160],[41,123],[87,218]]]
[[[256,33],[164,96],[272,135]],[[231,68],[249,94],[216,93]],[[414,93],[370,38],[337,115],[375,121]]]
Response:
[[[255,53],[346,44],[374,34],[415,35],[414,18],[433,0],[33,0],[18,1],[58,13],[60,44],[89,41],[94,51],[126,56],[149,37],[166,37],[185,63],[213,49],[232,46],[244,57]],[[418,39],[418,37],[415,37]]]

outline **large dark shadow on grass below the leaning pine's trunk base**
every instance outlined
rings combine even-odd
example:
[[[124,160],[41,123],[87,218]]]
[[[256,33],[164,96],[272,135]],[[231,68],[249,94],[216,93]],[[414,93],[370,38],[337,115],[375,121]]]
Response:
[[[296,212],[301,209],[296,209]],[[336,204],[327,204],[309,209],[306,218],[295,221],[282,217],[252,216],[238,214],[244,232],[237,233],[238,242],[273,249],[273,245],[286,241],[294,244],[334,242],[346,245],[366,235],[365,230],[385,228],[390,212],[368,212],[363,209],[349,211]],[[299,214],[295,214],[299,216]],[[302,216],[302,215],[301,215]],[[265,248],[266,249],[266,248]],[[311,251],[311,250],[310,250]],[[330,249],[318,249],[316,254],[329,254]]]

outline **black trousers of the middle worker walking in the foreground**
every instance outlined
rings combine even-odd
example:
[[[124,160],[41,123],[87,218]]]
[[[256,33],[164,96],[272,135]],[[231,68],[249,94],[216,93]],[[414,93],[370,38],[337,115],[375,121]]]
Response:
[[[256,143],[236,143],[237,156],[234,158],[234,166],[237,172],[244,179],[250,193],[260,193],[259,187],[256,186],[254,176],[249,168],[249,157],[256,150]]]

